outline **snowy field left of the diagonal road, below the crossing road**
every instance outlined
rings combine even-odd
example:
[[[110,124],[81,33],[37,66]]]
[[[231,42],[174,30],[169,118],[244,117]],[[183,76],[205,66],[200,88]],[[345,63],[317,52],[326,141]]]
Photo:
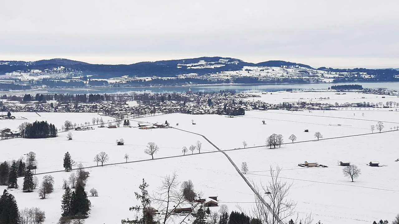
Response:
[[[204,197],[218,196],[218,200],[228,202],[229,210],[236,210],[237,203],[253,202],[253,193],[241,179],[237,171],[222,153],[199,154],[189,157],[177,157],[137,163],[126,163],[115,166],[95,167],[88,169],[86,191],[97,189],[98,197],[89,197],[91,201],[91,214],[86,223],[120,223],[121,219],[134,218],[134,212],[129,207],[136,206],[139,202],[134,196],[138,192],[138,185],[142,179],[150,185],[148,192],[152,194],[161,185],[162,178],[172,175],[176,171],[179,181],[192,180],[195,189],[202,192]],[[38,206],[46,212],[44,224],[57,223],[61,216],[61,198],[64,190],[61,189],[62,179],[67,179],[71,172],[51,174],[54,177],[54,192],[49,198],[40,200],[37,190],[33,193],[22,193],[21,189],[10,190],[16,197],[18,207]],[[38,175],[41,180],[43,175]],[[22,186],[23,179],[18,179]],[[0,186],[3,191],[4,186]],[[223,203],[222,203],[223,204]],[[240,204],[249,206],[249,203]],[[152,204],[156,207],[156,204]]]

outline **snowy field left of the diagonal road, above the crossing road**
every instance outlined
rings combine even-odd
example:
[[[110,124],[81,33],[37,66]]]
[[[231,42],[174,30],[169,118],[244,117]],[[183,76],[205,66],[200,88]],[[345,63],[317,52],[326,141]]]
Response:
[[[34,151],[37,155],[37,173],[63,170],[63,157],[69,151],[73,160],[83,166],[94,166],[94,156],[101,151],[109,155],[108,163],[124,162],[124,154],[128,153],[129,161],[151,159],[144,153],[148,142],[155,142],[160,148],[154,158],[183,155],[182,147],[202,142],[201,152],[214,151],[215,148],[201,136],[182,132],[172,128],[141,130],[138,128],[96,128],[95,130],[71,131],[73,140],[67,140],[66,132],[59,133],[56,138],[24,139],[16,138],[1,141],[4,148],[13,150],[2,153],[2,161],[18,159],[20,156]],[[116,140],[123,138],[124,145],[117,145]],[[198,150],[194,151],[198,153]],[[191,154],[188,151],[186,154]]]

